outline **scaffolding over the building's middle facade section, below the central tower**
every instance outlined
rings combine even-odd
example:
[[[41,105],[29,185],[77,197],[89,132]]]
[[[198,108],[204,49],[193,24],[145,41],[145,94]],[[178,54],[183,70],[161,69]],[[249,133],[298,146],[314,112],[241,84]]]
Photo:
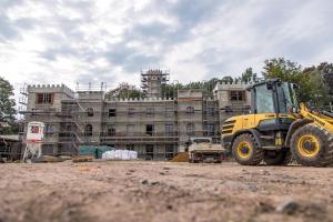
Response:
[[[103,144],[123,149],[135,145],[140,148],[139,158],[145,160],[165,160],[175,154],[179,137],[174,100],[107,101],[105,108],[101,134]],[[165,119],[167,108],[172,108],[173,113]],[[117,110],[117,113],[110,117],[110,110]],[[172,124],[172,132],[165,132],[165,124]]]

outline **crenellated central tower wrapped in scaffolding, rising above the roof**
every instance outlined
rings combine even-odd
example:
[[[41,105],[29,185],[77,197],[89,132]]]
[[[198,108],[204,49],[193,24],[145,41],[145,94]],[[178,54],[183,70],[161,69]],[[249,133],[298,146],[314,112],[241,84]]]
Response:
[[[162,98],[162,85],[169,81],[170,71],[149,69],[141,71],[141,88],[147,98]]]

